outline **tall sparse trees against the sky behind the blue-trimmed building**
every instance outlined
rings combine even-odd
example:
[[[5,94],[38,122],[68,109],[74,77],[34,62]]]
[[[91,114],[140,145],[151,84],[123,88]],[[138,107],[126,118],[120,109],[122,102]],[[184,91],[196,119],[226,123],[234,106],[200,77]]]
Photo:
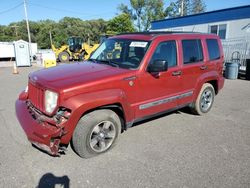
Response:
[[[163,0],[130,0],[130,5],[120,4],[118,9],[130,15],[138,31],[150,29],[154,20],[187,16],[205,12],[204,0],[175,0],[165,8]]]

